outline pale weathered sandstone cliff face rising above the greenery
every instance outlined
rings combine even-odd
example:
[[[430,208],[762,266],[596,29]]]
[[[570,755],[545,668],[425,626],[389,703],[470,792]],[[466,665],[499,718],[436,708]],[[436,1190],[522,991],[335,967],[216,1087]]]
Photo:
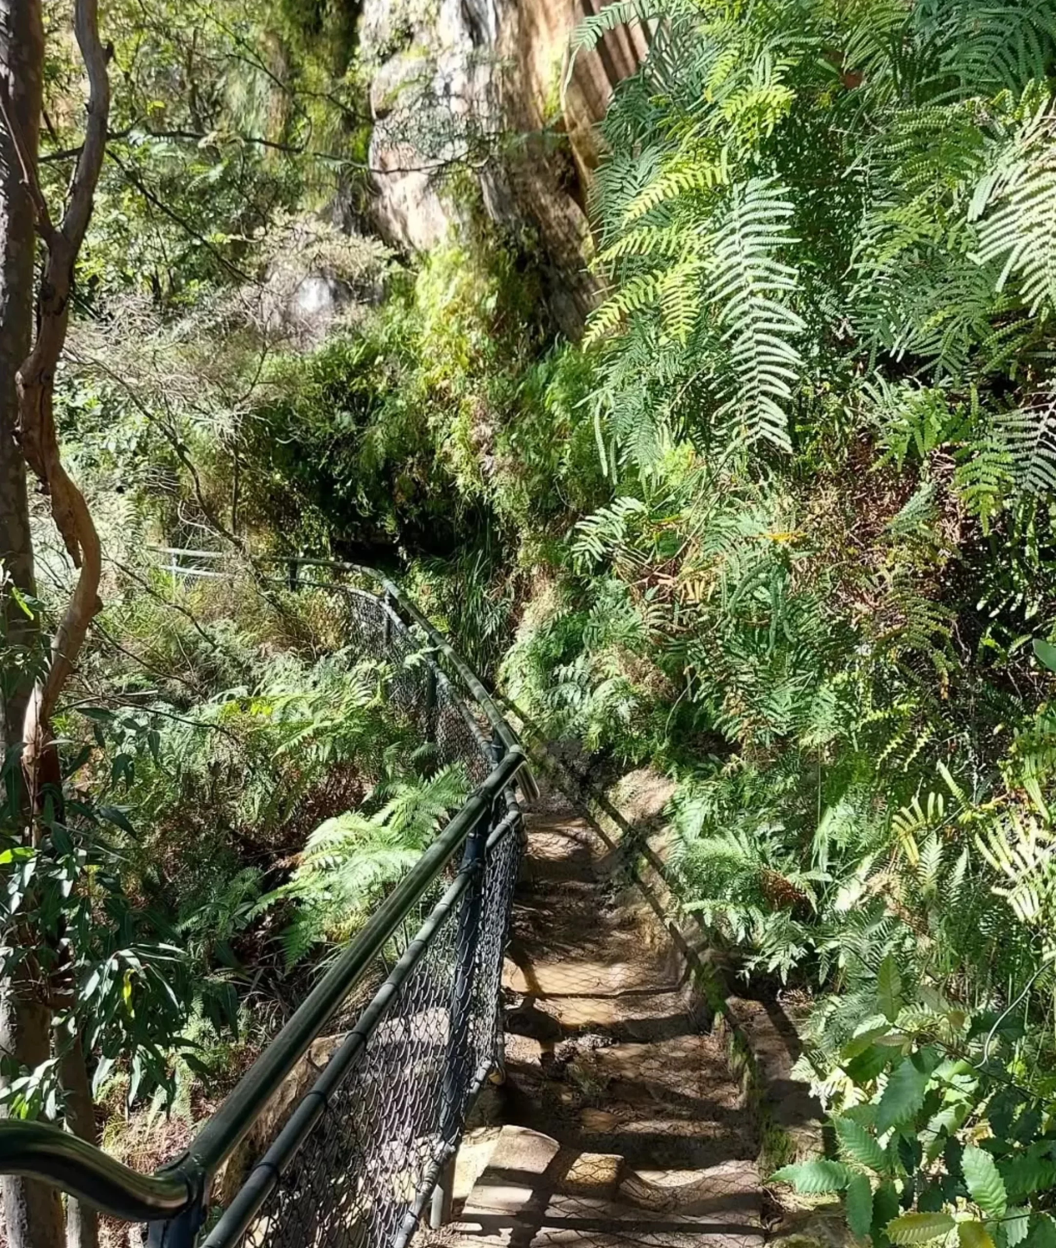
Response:
[[[568,75],[572,32],[599,4],[367,0],[361,19],[381,235],[434,246],[464,212],[446,176],[468,171],[493,220],[534,228],[550,316],[573,338],[597,298],[584,211],[595,126],[647,46],[640,29],[613,31]]]

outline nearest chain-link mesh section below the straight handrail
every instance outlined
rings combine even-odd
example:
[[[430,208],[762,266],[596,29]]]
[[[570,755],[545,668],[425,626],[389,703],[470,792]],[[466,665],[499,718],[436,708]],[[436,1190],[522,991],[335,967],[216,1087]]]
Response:
[[[471,837],[441,900],[394,942],[389,975],[291,1117],[287,1138],[256,1167],[277,1178],[271,1194],[250,1214],[258,1197],[251,1176],[206,1248],[373,1248],[411,1238],[476,1092],[502,1062],[498,983],[518,822],[511,806]],[[295,1153],[298,1114],[317,1121]]]

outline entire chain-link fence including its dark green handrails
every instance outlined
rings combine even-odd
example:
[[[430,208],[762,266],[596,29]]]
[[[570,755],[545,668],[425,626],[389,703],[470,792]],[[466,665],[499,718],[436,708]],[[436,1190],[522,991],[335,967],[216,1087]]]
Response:
[[[216,552],[157,553],[177,579],[240,574]],[[280,580],[273,564],[250,570],[272,605],[291,619],[288,592],[312,585],[320,598],[306,605],[382,666],[426,756],[459,764],[474,787],[182,1157],[141,1174],[55,1124],[9,1121],[0,1173],[146,1222],[151,1248],[404,1248],[431,1196],[442,1213],[473,1098],[503,1063],[502,963],[523,842],[513,784],[538,790],[488,691],[396,585],[301,559]]]

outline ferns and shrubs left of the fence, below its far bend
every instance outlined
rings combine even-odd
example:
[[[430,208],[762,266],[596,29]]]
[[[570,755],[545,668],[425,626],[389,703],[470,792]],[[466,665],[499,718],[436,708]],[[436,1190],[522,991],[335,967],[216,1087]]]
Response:
[[[343,644],[340,592],[181,588],[149,563],[109,590],[59,723],[65,801],[7,849],[5,907],[76,951],[62,1025],[111,1149],[156,1164],[145,1123],[167,1108],[185,1132],[217,1103],[467,785],[389,666]],[[56,1065],[19,1075],[12,1112],[52,1116]]]

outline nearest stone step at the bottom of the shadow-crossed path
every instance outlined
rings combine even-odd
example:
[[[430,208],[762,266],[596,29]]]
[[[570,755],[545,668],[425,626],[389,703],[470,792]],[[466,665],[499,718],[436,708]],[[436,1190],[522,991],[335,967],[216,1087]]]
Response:
[[[758,1176],[748,1162],[638,1176],[507,1126],[451,1233],[462,1248],[759,1248]]]

